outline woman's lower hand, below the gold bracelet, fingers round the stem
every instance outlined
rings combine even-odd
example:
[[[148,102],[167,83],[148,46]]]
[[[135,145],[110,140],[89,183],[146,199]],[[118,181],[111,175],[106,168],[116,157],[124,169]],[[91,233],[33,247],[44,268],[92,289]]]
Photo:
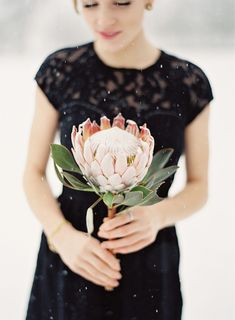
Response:
[[[104,287],[119,285],[119,260],[96,238],[65,225],[53,239],[61,259],[73,272]]]

